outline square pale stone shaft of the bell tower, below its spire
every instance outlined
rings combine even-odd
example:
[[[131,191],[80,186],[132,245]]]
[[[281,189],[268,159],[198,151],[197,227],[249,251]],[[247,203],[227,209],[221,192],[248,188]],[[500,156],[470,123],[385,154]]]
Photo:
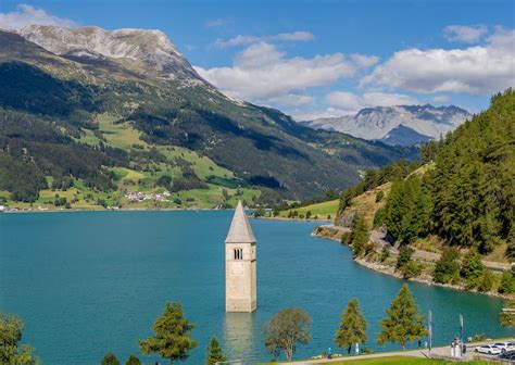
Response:
[[[226,243],[226,311],[254,312],[256,309],[256,252],[255,242]],[[242,259],[235,257],[235,250],[242,250]]]

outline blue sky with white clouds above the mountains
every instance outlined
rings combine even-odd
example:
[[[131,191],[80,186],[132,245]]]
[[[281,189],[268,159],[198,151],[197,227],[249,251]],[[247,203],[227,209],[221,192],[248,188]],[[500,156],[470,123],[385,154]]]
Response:
[[[514,1],[10,1],[28,23],[158,28],[233,97],[298,119],[430,102],[477,112],[515,86]]]

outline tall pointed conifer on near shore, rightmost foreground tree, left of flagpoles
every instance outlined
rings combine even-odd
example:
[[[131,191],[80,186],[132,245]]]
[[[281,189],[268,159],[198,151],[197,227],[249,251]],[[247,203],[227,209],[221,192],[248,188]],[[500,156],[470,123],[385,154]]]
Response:
[[[427,330],[423,322],[424,316],[418,314],[415,299],[407,285],[404,285],[380,323],[381,331],[378,333],[377,343],[398,342],[404,350],[407,341],[426,336]]]

